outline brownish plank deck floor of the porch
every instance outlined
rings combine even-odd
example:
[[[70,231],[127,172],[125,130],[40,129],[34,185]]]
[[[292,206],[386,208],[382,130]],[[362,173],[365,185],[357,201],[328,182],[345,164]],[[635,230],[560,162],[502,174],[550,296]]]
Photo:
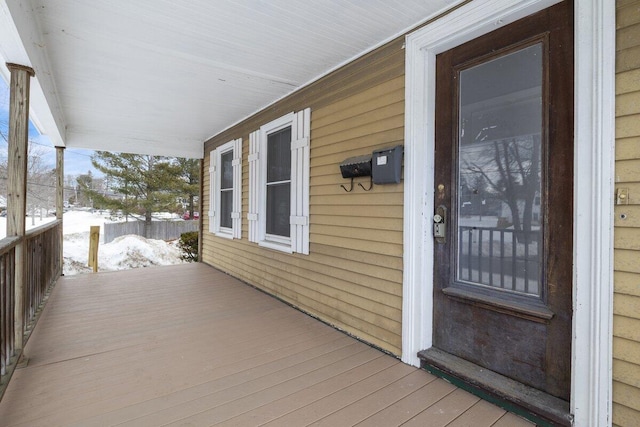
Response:
[[[530,425],[203,264],[63,277],[2,426]]]

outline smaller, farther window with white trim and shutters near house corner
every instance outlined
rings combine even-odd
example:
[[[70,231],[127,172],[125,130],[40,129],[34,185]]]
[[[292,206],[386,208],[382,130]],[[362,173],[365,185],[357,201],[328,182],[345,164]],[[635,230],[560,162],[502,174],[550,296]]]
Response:
[[[229,141],[209,157],[209,231],[242,237],[242,139]]]

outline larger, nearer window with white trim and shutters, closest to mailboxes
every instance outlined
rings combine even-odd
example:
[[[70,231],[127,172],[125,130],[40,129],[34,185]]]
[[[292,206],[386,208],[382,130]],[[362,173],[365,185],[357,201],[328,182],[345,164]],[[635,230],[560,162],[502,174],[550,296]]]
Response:
[[[310,125],[307,108],[249,135],[249,241],[309,254]]]

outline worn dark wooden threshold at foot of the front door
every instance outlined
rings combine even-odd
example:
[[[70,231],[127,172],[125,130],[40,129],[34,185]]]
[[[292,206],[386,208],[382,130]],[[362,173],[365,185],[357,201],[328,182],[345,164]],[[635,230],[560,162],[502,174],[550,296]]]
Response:
[[[418,353],[420,367],[539,426],[571,426],[569,403],[540,390],[430,348]]]

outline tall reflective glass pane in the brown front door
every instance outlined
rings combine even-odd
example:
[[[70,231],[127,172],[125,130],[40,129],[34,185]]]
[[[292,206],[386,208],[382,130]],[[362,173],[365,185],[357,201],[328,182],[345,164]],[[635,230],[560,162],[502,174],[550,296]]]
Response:
[[[459,74],[456,279],[541,295],[542,44]]]

